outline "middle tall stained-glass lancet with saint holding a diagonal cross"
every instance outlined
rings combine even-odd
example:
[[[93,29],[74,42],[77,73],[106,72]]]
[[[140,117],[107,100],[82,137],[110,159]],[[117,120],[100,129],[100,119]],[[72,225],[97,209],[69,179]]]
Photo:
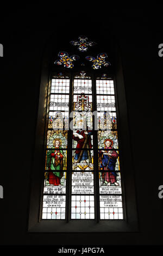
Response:
[[[91,77],[74,77],[73,129],[71,219],[91,220],[95,219]]]

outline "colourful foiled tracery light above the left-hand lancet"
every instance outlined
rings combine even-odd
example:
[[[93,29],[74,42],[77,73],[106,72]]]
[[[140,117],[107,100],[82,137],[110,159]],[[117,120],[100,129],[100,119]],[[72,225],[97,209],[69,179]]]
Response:
[[[72,62],[79,59],[79,56],[77,55],[69,57],[67,52],[59,52],[58,56],[60,59],[55,60],[54,64],[64,65],[64,67],[68,69],[72,69],[74,66]]]

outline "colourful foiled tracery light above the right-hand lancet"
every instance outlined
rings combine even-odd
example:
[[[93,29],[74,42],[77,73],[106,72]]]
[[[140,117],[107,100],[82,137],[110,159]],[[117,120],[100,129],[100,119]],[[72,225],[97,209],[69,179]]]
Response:
[[[101,66],[110,66],[110,62],[106,62],[105,58],[108,57],[107,54],[104,53],[99,53],[97,55],[97,59],[95,57],[92,56],[87,56],[85,57],[87,60],[89,60],[90,62],[93,62],[92,68],[93,69],[101,69]]]

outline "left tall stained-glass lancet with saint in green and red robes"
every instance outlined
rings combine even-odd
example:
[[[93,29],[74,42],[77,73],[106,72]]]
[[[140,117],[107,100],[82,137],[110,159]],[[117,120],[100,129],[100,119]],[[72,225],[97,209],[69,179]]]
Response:
[[[70,79],[53,76],[49,91],[48,130],[42,219],[66,218],[67,130]]]

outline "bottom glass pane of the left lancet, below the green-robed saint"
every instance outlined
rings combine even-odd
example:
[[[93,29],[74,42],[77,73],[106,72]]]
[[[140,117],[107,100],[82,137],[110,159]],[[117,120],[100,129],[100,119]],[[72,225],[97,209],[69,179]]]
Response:
[[[42,219],[65,220],[66,196],[43,196]]]

